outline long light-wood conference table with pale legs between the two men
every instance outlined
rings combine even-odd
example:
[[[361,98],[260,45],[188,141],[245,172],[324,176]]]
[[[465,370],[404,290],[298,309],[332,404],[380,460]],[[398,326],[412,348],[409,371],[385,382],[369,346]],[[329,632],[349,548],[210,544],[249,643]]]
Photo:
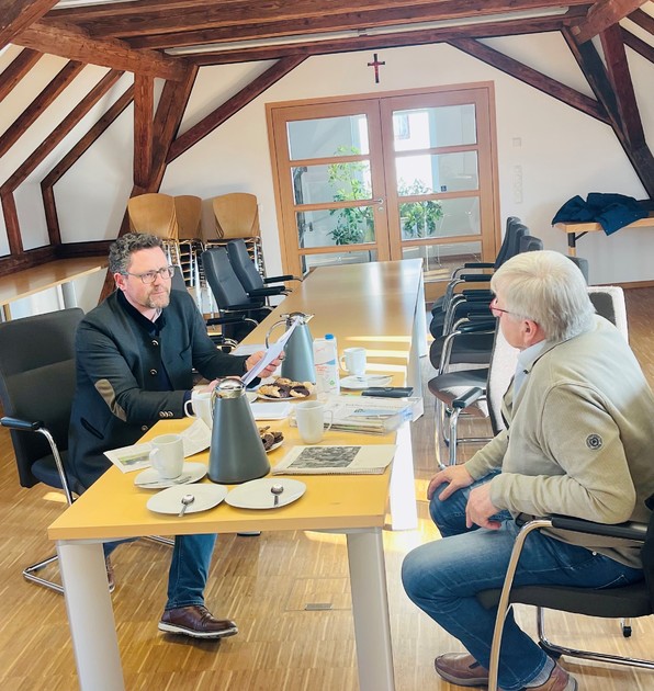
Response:
[[[420,263],[410,260],[318,269],[267,319],[268,326],[286,311],[315,314],[314,337],[328,330],[337,336],[339,349],[363,346],[369,349],[369,371],[388,371],[395,375],[394,383],[411,383],[411,371],[418,366],[411,361],[425,347],[419,343],[424,332],[418,333],[416,326],[420,314],[425,314]],[[261,342],[266,330],[267,326],[261,325],[248,340]],[[164,430],[183,429],[188,423],[159,422],[144,439]],[[284,432],[285,443],[271,454],[273,465],[296,443],[294,429],[286,423],[279,429]],[[48,529],[49,537],[57,541],[80,688],[124,689],[102,542],[151,534],[326,530],[347,537],[360,689],[394,689],[382,529],[390,487],[396,475],[408,472],[410,457],[404,456],[410,456],[410,438],[407,449],[406,440],[395,434],[329,432],[328,437],[328,442],[335,444],[394,441],[398,454],[392,469],[383,475],[297,476],[306,483],[307,491],[298,501],[274,511],[235,509],[223,502],[181,519],[154,513],[146,507],[153,492],[136,488],[132,474],[110,468]],[[204,453],[193,460],[207,457]],[[413,486],[413,468],[409,478],[396,482],[409,497],[413,492],[407,491],[407,485]],[[393,511],[393,502],[390,508]]]

